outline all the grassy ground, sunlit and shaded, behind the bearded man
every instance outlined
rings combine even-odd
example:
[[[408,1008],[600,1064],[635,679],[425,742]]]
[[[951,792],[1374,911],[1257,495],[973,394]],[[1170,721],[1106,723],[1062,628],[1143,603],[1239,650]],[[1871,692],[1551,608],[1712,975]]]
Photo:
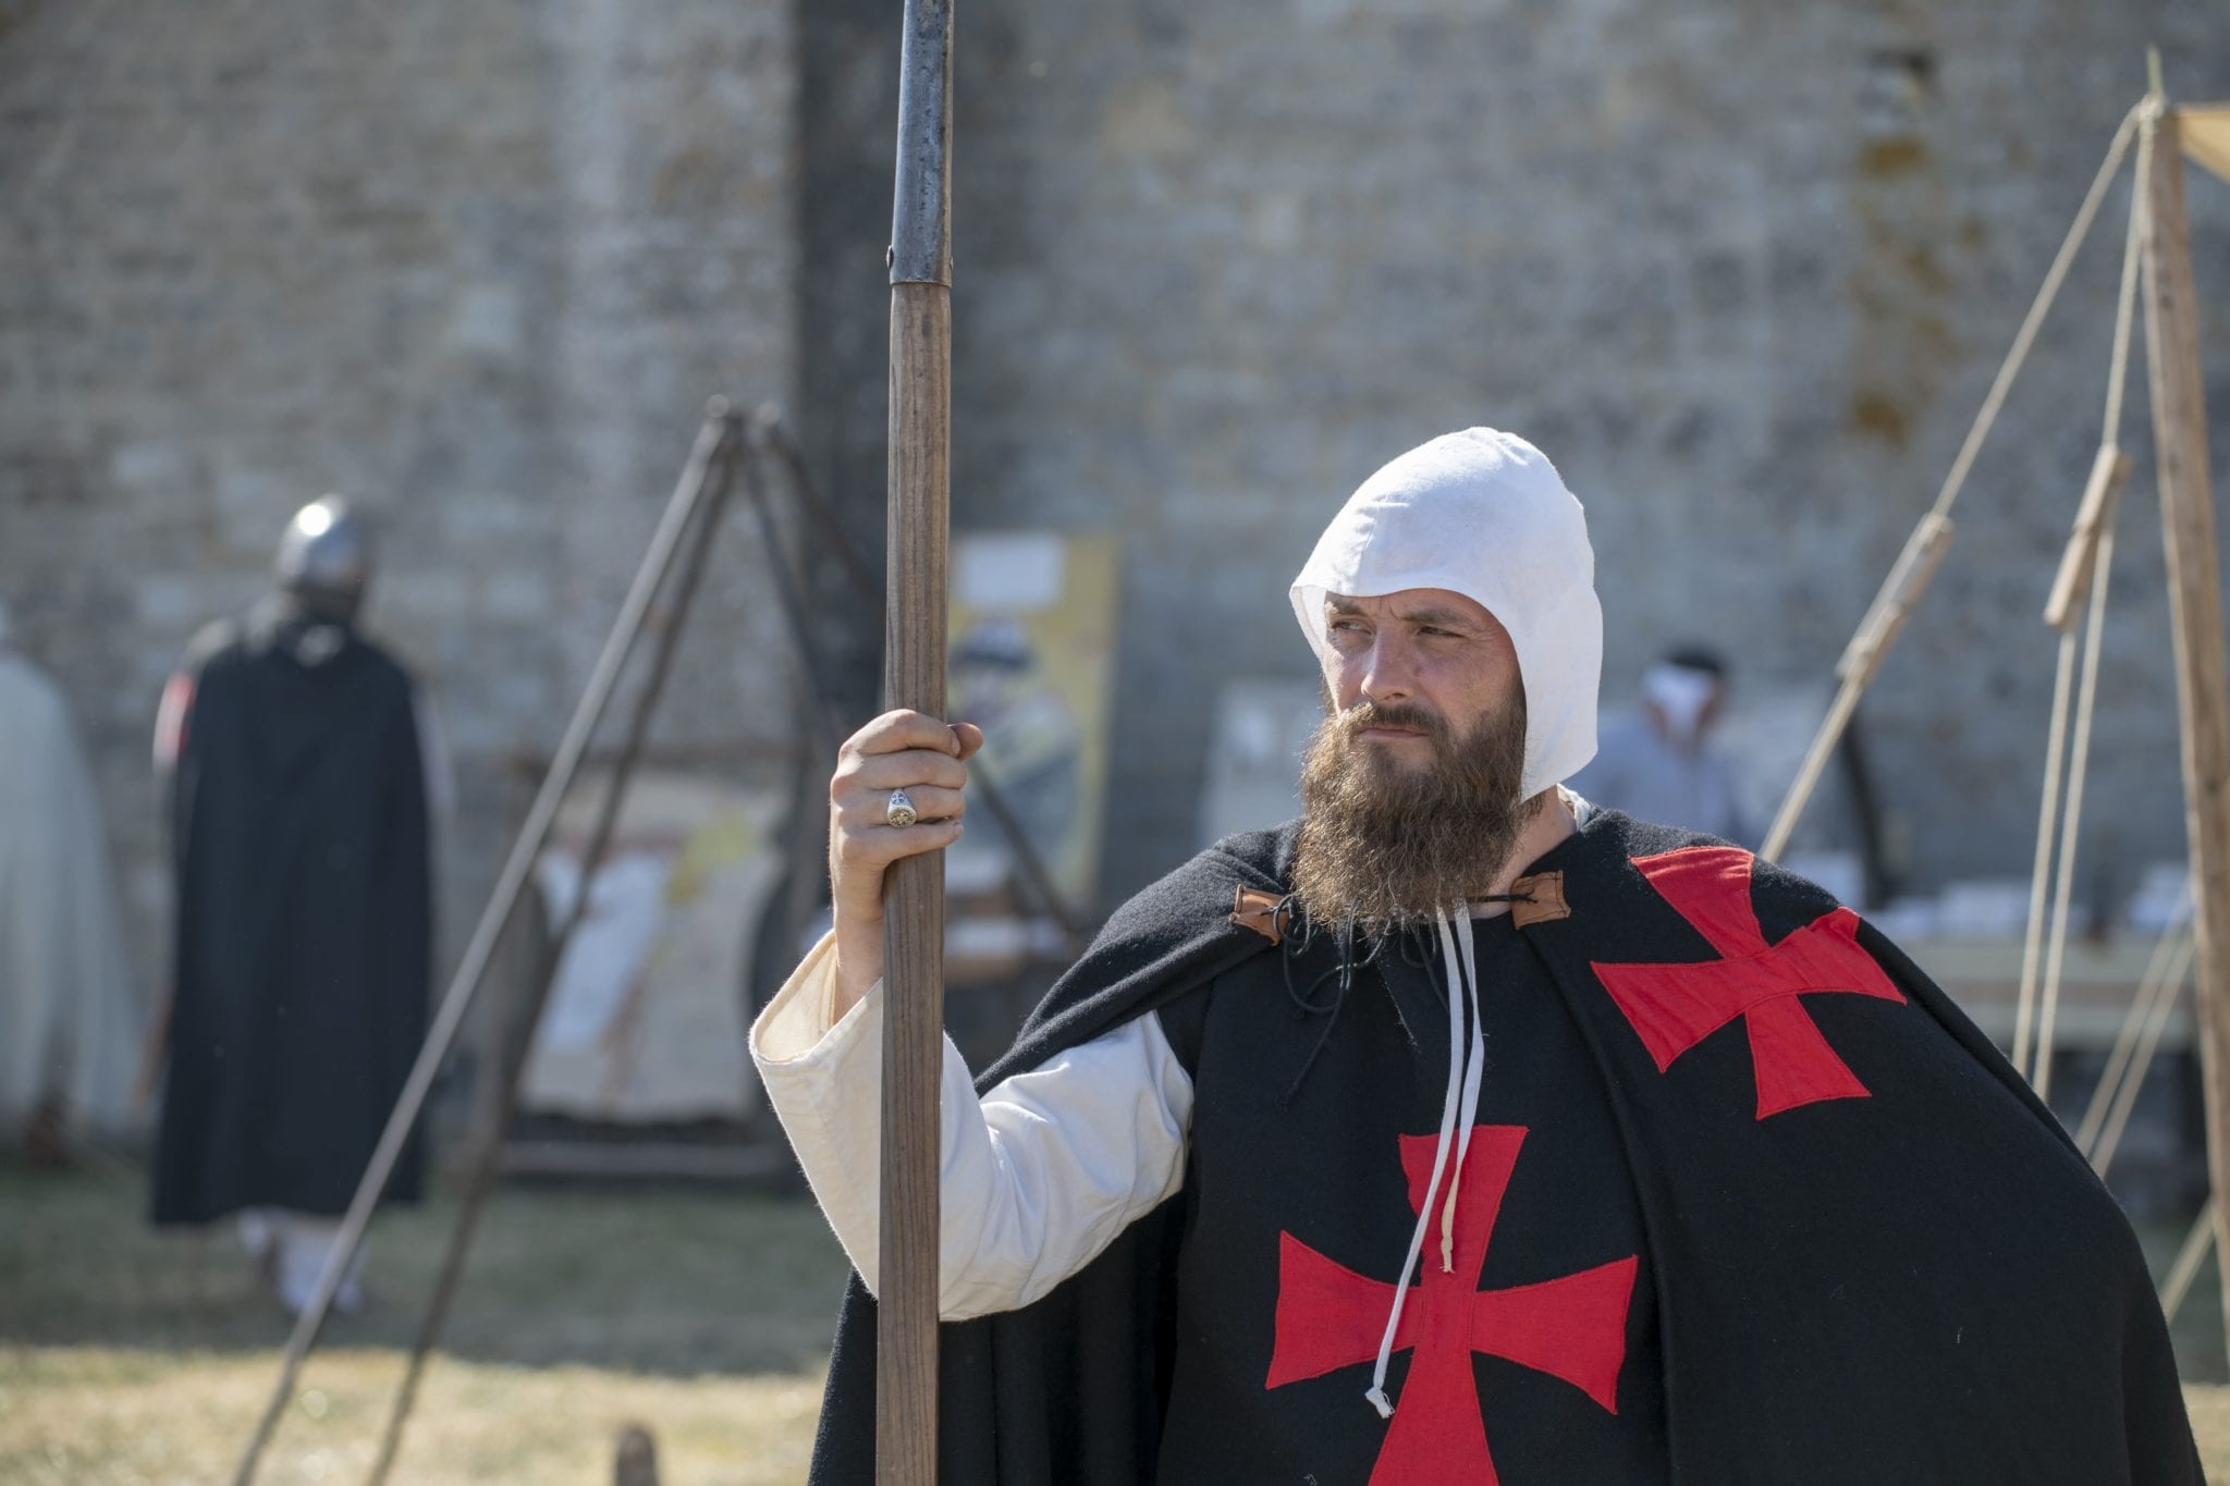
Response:
[[[152,1232],[136,1172],[0,1163],[0,1484],[223,1482],[277,1381],[288,1317],[230,1230]],[[270,1486],[361,1482],[455,1203],[381,1216],[363,1317],[303,1368]],[[2145,1234],[2156,1270],[2181,1228]],[[803,1201],[691,1190],[497,1192],[395,1482],[611,1479],[640,1421],[669,1486],[805,1477],[843,1254]],[[2208,1479],[2230,1484],[2212,1265],[2176,1350]]]

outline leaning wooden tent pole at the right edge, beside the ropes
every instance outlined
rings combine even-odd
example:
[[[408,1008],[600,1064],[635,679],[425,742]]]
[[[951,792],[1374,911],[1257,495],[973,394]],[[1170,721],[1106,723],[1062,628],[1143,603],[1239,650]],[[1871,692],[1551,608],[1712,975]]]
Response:
[[[2183,820],[2192,853],[2192,927],[2199,940],[2199,1054],[2208,1101],[2208,1176],[2230,1192],[2230,691],[2223,677],[2223,597],[2208,483],[2205,394],[2199,379],[2199,301],[2183,218],[2176,114],[2154,94],[2139,136],[2145,192],[2145,361],[2152,443],[2161,470],[2168,604],[2183,722]],[[2217,1252],[2230,1254],[2230,1201],[2214,1203]],[[2230,1337],[2230,1285],[2223,1285]]]

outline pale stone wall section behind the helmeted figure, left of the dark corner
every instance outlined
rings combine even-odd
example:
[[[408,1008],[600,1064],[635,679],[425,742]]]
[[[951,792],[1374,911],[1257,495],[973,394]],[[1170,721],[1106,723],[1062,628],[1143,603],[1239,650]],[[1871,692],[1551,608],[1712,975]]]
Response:
[[[384,535],[370,624],[457,755],[455,942],[707,394],[792,397],[792,11],[640,16],[0,2],[0,593],[89,737],[149,974],[156,693],[299,501]],[[660,744],[745,753],[785,675],[738,524]]]

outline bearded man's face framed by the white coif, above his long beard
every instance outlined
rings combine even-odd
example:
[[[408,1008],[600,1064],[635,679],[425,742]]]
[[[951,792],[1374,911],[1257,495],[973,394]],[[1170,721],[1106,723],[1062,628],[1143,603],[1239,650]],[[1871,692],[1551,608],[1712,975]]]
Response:
[[[1403,588],[1378,597],[1325,597],[1325,688],[1334,713],[1369,697],[1385,722],[1358,737],[1389,764],[1427,769],[1432,740],[1405,726],[1425,713],[1470,737],[1519,697],[1519,653],[1483,604],[1447,588]],[[1414,722],[1414,720],[1412,720]]]

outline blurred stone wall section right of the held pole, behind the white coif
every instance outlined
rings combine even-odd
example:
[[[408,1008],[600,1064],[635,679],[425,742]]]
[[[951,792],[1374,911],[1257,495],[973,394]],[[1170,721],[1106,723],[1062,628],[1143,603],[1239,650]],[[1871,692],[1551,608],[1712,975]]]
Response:
[[[1586,499],[1606,700],[1661,644],[1706,639],[1809,726],[2143,91],[2145,45],[2179,96],[2212,98],[2217,40],[2190,0],[970,11],[957,519],[1128,541],[1111,889],[1191,844],[1215,684],[1307,675],[1284,584],[1329,510],[1465,423],[1525,432]],[[2027,871],[2036,615],[2098,437],[2125,201],[1867,708],[1922,882]],[[2192,229],[2219,278],[2219,183],[2192,180]],[[2230,281],[2212,292],[2223,410]],[[2092,782],[2094,860],[2125,867],[2181,851],[2150,479],[2141,457]]]

